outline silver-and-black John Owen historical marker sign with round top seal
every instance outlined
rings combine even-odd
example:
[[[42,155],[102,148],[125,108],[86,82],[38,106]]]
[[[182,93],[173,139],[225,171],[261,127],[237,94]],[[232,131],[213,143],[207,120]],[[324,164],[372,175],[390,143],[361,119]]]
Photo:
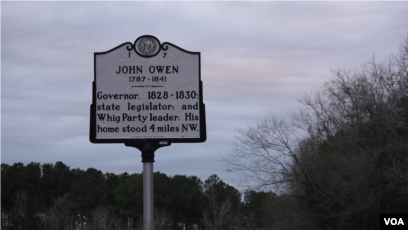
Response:
[[[200,53],[141,36],[94,54],[93,143],[206,140]]]

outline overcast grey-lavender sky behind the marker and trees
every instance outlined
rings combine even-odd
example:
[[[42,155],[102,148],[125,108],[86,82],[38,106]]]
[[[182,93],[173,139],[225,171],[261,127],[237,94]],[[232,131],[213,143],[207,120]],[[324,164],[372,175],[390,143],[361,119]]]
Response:
[[[142,35],[201,52],[207,141],[156,152],[155,171],[217,174],[234,128],[285,114],[330,68],[397,52],[406,0],[0,0],[0,163],[143,171],[140,151],[89,142],[94,52]]]

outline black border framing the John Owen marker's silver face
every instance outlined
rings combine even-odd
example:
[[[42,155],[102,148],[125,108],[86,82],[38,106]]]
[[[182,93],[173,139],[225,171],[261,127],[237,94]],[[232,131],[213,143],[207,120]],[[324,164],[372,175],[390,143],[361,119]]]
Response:
[[[151,37],[156,39],[156,41],[159,42],[159,49],[158,51],[150,56],[145,56],[142,54],[139,54],[136,51],[136,48],[134,47],[134,44],[136,44],[136,41],[138,39],[141,39],[143,37]],[[125,145],[142,145],[144,143],[152,143],[156,145],[170,145],[171,143],[199,143],[199,142],[205,142],[207,140],[207,126],[206,126],[206,117],[205,117],[205,104],[203,103],[203,83],[201,81],[201,53],[200,52],[191,52],[187,51],[183,48],[180,48],[172,43],[169,42],[164,42],[163,44],[160,44],[159,39],[152,35],[143,35],[137,38],[132,44],[131,42],[125,42],[122,45],[119,45],[113,49],[110,49],[105,52],[95,52],[94,53],[94,81],[92,82],[92,104],[90,106],[90,126],[89,126],[89,141],[94,143],[94,144],[108,144],[108,143],[124,143]],[[149,139],[97,139],[96,138],[96,56],[97,55],[103,55],[110,53],[118,48],[121,48],[122,46],[127,46],[126,49],[128,51],[135,51],[137,55],[143,58],[151,58],[156,56],[157,54],[160,53],[160,50],[167,50],[168,46],[173,46],[183,52],[190,53],[190,54],[198,54],[198,72],[199,72],[199,114],[200,114],[200,137],[199,138],[149,138]]]

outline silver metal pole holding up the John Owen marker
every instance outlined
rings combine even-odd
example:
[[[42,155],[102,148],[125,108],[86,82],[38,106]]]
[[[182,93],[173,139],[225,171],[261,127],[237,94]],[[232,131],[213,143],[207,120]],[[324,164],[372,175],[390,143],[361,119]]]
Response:
[[[153,162],[143,162],[143,230],[153,230]]]

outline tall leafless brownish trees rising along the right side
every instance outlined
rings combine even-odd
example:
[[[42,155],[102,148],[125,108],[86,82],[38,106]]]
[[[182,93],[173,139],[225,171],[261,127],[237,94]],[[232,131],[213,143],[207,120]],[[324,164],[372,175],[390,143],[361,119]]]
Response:
[[[286,200],[267,228],[375,230],[380,213],[408,213],[408,38],[384,61],[333,69],[298,101],[237,129],[224,158],[242,186]]]

